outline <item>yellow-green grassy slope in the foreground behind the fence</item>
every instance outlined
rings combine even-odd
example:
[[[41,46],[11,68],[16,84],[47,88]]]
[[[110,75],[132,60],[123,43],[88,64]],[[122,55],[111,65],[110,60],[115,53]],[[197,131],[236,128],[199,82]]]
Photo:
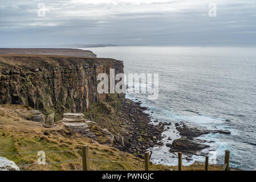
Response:
[[[21,167],[22,170],[82,170],[81,146],[90,146],[90,158],[97,160],[117,161],[108,163],[90,160],[92,170],[143,170],[144,160],[120,152],[115,148],[101,145],[82,135],[64,129],[62,123],[45,128],[41,123],[28,121],[31,115],[26,107],[19,105],[0,105],[0,152],[25,151],[67,151],[46,152],[46,162],[75,162]],[[18,166],[36,163],[37,153],[0,154],[13,160]],[[151,164],[152,170],[177,170],[175,166]],[[185,170],[202,170],[203,165],[194,164],[184,167]],[[210,170],[220,170],[221,166],[209,166]]]

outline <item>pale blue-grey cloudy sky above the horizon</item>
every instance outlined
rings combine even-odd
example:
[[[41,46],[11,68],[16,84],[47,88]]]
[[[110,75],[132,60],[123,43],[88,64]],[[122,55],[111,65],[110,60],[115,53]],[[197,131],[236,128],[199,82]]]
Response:
[[[0,47],[60,44],[256,46],[256,1],[0,0]]]

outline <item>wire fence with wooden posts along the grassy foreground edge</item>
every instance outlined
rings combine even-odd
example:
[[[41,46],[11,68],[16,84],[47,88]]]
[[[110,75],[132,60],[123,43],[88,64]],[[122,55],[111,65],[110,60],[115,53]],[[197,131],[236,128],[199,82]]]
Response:
[[[96,166],[95,163],[99,162],[99,163],[116,163],[116,164],[133,164],[133,168],[132,170],[134,170],[134,168],[136,167],[136,169],[140,170],[145,170],[145,171],[159,171],[161,170],[160,168],[154,168],[154,167],[149,167],[150,163],[149,163],[149,152],[145,152],[144,155],[144,161],[141,159],[137,159],[136,162],[133,161],[125,161],[125,160],[104,160],[104,159],[100,159],[103,157],[103,154],[106,155],[122,155],[123,159],[127,159],[126,157],[129,155],[137,155],[137,154],[127,154],[127,153],[114,153],[114,152],[99,152],[99,151],[92,151],[91,155],[89,152],[89,147],[88,146],[83,146],[82,150],[66,150],[66,151],[57,151],[57,150],[52,150],[52,151],[23,151],[23,152],[0,152],[0,154],[39,154],[39,152],[44,152],[44,153],[64,153],[64,152],[78,152],[78,151],[82,151],[82,156],[80,156],[80,154],[78,155],[77,159],[70,159],[70,160],[64,160],[64,161],[57,161],[57,162],[45,162],[43,163],[44,165],[47,164],[62,164],[62,163],[75,163],[75,162],[82,162],[83,165],[83,170],[87,171],[87,170],[96,170],[96,171],[128,171],[128,167],[124,167],[124,166],[119,166],[120,168],[112,168],[113,166],[109,166],[109,169],[99,169]],[[93,154],[93,155],[92,155]],[[100,156],[97,156],[98,158],[91,158],[91,156],[95,156],[96,154],[101,154]],[[119,158],[120,159],[120,158]],[[206,160],[205,160],[205,171],[208,171],[208,156],[206,156]],[[45,160],[45,159],[44,159]],[[91,166],[91,163],[95,164]],[[142,164],[142,165],[141,165]],[[23,167],[30,167],[30,166],[42,166],[42,164],[39,163],[30,163],[30,164],[18,164],[19,168],[23,168]],[[181,171],[182,170],[182,152],[178,152],[178,170]],[[229,170],[229,151],[226,150],[225,151],[225,163],[224,163],[224,167],[222,168],[222,171],[228,171]]]

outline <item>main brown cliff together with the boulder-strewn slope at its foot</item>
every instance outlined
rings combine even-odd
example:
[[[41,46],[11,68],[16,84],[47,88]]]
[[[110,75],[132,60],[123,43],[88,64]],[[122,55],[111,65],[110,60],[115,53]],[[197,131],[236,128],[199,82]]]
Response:
[[[113,147],[143,158],[147,148],[161,140],[164,124],[150,124],[149,114],[144,113],[147,108],[140,106],[140,102],[125,100],[125,94],[97,93],[96,76],[99,73],[110,75],[111,68],[115,69],[115,74],[123,73],[122,61],[0,55],[0,105],[23,105],[34,113],[26,119],[46,124],[46,127],[61,121],[63,113],[83,113],[84,119],[97,123],[114,136]],[[99,135],[97,141],[105,143],[102,132],[91,129]]]

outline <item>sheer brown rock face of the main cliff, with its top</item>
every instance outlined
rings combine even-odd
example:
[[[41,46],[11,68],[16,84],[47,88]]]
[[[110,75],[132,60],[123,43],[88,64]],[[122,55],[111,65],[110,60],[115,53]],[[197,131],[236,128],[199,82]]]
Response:
[[[113,59],[65,56],[0,56],[0,104],[29,105],[46,114],[47,123],[63,113],[83,113],[107,94],[97,93],[97,75],[123,63]],[[124,94],[118,94],[119,100]]]

